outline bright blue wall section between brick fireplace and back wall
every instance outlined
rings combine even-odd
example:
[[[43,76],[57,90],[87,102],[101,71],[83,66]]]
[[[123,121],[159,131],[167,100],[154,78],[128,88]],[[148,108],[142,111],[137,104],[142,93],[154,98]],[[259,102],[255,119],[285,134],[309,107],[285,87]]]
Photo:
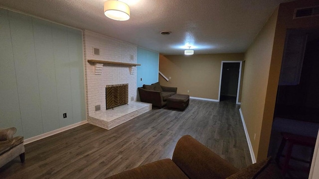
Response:
[[[138,47],[137,87],[159,81],[159,53]],[[142,79],[142,81],[141,81]]]

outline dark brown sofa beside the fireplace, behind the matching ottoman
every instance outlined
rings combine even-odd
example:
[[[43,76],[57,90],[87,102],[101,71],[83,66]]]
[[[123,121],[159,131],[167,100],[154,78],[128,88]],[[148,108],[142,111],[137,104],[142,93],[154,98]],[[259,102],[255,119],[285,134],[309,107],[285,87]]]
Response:
[[[166,99],[177,92],[177,88],[163,87],[160,83],[152,85],[143,85],[138,88],[142,102],[152,103],[153,106],[163,107],[166,105]]]

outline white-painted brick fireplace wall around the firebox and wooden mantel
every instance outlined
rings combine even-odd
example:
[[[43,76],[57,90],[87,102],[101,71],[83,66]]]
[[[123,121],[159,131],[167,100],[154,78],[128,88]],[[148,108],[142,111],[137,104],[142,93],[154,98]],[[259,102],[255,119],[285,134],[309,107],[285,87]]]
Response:
[[[88,63],[87,60],[136,64],[137,46],[87,30],[83,32],[83,41],[88,118],[90,114],[95,113],[95,105],[100,104],[101,110],[105,110],[105,87],[107,85],[129,84],[129,101],[136,101],[137,72],[135,69],[132,73],[128,66],[104,64],[102,73],[96,74],[95,64]],[[93,55],[93,47],[100,49],[100,56]]]

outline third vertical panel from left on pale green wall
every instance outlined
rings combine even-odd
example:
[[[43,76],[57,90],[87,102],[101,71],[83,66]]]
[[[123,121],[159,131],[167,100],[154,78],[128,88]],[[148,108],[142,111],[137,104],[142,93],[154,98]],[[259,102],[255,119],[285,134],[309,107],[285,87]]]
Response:
[[[59,128],[51,23],[33,19],[43,132]]]

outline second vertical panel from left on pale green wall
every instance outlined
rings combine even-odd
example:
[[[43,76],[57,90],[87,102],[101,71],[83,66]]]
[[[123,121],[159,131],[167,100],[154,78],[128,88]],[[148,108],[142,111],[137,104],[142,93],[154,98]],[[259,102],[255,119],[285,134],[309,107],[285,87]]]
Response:
[[[32,18],[10,11],[8,17],[23,134],[36,136],[42,133],[42,120]]]

